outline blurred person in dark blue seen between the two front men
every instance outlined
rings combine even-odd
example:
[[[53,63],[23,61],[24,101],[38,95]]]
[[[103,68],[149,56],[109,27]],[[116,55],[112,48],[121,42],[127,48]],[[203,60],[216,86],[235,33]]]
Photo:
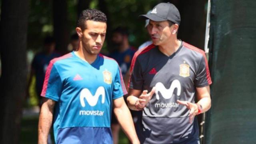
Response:
[[[129,34],[126,28],[116,28],[112,33],[112,46],[114,48],[114,52],[109,55],[110,58],[114,58],[118,62],[126,88],[128,84],[128,77],[125,77],[125,75],[129,71],[132,57],[136,51],[133,46],[130,46],[128,36]],[[132,116],[134,118],[133,112]],[[112,115],[111,129],[114,144],[118,144],[120,125],[114,115]]]

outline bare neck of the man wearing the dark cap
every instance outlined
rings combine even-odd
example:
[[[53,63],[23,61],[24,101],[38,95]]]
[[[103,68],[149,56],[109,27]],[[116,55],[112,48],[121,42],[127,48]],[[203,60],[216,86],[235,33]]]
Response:
[[[174,39],[159,45],[158,48],[166,56],[171,56],[174,52],[176,52],[180,48],[180,45],[181,45],[181,41],[178,39]]]

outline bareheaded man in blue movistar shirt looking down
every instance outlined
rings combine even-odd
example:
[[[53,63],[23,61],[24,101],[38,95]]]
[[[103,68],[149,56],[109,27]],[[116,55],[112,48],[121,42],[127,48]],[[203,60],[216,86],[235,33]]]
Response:
[[[133,144],[138,144],[127,94],[116,61],[99,54],[106,36],[106,15],[84,10],[78,19],[77,51],[52,60],[47,68],[38,143],[46,143],[53,122],[56,144],[111,144],[112,106],[118,122]]]

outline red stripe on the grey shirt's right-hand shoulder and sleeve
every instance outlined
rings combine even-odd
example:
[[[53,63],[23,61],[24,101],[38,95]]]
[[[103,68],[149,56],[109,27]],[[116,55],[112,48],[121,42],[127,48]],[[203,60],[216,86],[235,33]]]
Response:
[[[205,61],[205,64],[206,64],[206,78],[207,78],[208,84],[212,84],[212,80],[211,80],[211,77],[210,77],[209,66],[208,66],[208,60],[206,58],[206,55],[205,55],[204,51],[200,50],[199,48],[196,48],[195,46],[192,46],[192,45],[190,45],[186,42],[183,42],[183,44],[184,44],[185,48],[188,48],[190,50],[194,50],[196,52],[199,52],[200,54],[202,54],[204,56],[204,61]]]

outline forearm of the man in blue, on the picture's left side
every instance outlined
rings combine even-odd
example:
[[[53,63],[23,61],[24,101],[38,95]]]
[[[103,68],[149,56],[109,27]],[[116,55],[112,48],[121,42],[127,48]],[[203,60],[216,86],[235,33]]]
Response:
[[[38,122],[38,144],[47,144],[48,134],[52,126],[52,117],[52,110],[44,103]]]

